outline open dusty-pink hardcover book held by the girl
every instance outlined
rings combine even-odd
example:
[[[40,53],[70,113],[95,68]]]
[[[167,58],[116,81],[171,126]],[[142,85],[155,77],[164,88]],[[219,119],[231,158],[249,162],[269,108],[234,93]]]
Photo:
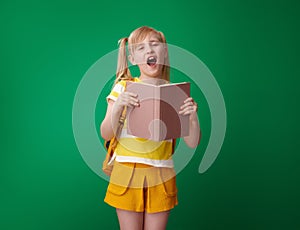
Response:
[[[126,90],[138,95],[140,105],[127,109],[127,133],[162,141],[189,135],[189,116],[180,107],[190,96],[190,83],[154,85],[127,82]]]

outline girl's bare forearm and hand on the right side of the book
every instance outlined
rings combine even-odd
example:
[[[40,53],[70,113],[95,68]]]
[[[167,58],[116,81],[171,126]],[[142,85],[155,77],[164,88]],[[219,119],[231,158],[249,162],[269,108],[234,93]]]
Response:
[[[194,102],[193,98],[189,97],[184,101],[184,104],[181,106],[181,111],[179,111],[179,114],[182,114],[184,116],[190,115],[190,133],[189,136],[183,138],[185,143],[190,148],[196,148],[201,139],[201,130],[197,116],[197,109],[197,103]]]

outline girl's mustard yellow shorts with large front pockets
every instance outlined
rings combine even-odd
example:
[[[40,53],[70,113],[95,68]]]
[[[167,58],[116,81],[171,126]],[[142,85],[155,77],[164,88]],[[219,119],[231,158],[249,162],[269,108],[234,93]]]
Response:
[[[134,212],[170,210],[178,203],[175,171],[115,161],[104,201]]]

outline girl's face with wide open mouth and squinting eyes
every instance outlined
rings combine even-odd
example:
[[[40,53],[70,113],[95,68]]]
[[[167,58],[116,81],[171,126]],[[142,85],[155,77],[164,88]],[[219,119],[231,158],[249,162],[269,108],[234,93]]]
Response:
[[[138,65],[141,79],[161,78],[166,55],[165,44],[161,43],[157,35],[153,33],[132,46],[129,60],[132,64]]]

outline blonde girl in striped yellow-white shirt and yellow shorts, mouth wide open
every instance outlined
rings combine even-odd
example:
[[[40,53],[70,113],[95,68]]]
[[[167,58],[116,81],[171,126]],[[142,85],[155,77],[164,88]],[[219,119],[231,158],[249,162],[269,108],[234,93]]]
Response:
[[[128,52],[126,43],[128,42]],[[138,95],[126,92],[127,81],[159,80],[169,82],[170,67],[165,36],[150,27],[134,30],[119,41],[116,81],[107,97],[106,116],[101,135],[110,140],[117,130],[124,108],[139,106]],[[137,65],[140,76],[133,78],[127,58]],[[192,98],[182,102],[179,114],[190,117],[189,136],[185,143],[195,148],[200,141],[197,104]],[[114,168],[105,202],[116,208],[121,230],[163,230],[169,212],[177,205],[177,188],[172,161],[172,140],[154,142],[121,131],[114,154]]]

